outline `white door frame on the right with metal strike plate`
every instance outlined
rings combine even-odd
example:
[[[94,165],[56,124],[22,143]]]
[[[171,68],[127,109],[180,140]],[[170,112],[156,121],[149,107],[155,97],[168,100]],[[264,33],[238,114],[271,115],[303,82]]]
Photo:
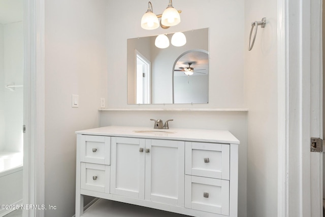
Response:
[[[278,216],[322,216],[322,0],[278,0]],[[312,184],[312,185],[311,185]]]

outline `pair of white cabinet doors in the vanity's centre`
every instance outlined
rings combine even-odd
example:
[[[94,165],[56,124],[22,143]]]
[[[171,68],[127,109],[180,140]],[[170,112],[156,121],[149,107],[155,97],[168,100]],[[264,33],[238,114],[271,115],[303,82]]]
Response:
[[[184,141],[111,141],[111,194],[184,206]]]

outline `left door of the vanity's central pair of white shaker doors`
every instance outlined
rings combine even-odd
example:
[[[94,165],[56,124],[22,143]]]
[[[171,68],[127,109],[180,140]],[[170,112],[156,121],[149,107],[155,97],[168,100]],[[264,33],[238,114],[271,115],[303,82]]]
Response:
[[[111,147],[111,194],[144,199],[145,139],[112,137]]]

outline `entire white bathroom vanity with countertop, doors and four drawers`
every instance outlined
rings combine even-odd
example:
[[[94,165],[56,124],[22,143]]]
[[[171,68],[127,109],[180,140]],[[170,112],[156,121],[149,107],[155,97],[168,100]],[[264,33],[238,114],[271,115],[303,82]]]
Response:
[[[191,216],[237,216],[239,141],[230,132],[136,130],[76,132],[76,217],[83,195]]]

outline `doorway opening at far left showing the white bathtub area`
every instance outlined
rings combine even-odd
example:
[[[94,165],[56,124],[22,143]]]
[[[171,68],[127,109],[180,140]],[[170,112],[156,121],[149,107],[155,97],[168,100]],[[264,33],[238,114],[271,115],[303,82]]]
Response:
[[[23,44],[23,1],[0,0],[0,203],[6,205],[22,203]],[[12,211],[0,209],[0,216]]]

